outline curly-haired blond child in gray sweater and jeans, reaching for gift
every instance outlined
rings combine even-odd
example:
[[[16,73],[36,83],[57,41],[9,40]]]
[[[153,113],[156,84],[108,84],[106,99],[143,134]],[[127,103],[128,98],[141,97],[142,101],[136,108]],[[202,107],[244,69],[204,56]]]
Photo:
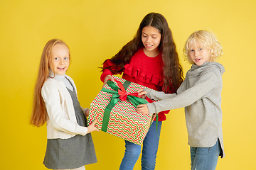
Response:
[[[183,48],[183,54],[192,66],[177,94],[149,89],[140,91],[140,95],[146,94],[157,102],[139,105],[139,113],[152,114],[185,107],[192,170],[215,169],[218,156],[225,157],[221,125],[222,74],[225,69],[215,62],[222,53],[222,47],[212,33],[198,30],[188,37]]]

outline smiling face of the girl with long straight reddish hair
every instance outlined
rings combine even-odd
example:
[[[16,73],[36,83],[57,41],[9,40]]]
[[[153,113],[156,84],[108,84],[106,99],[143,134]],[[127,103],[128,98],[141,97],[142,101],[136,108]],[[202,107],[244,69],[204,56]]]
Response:
[[[70,64],[70,52],[65,45],[53,46],[53,72],[55,74],[64,75]]]

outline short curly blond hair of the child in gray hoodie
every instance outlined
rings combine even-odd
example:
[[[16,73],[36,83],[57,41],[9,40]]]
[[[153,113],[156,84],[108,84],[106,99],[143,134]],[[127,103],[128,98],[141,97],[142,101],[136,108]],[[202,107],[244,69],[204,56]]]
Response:
[[[198,30],[192,33],[188,37],[188,40],[186,40],[185,47],[183,48],[183,56],[186,58],[186,60],[193,64],[188,54],[189,50],[191,50],[191,45],[199,45],[200,47],[210,50],[210,62],[215,62],[218,57],[223,55],[220,42],[218,42],[213,33],[210,33],[206,30]]]

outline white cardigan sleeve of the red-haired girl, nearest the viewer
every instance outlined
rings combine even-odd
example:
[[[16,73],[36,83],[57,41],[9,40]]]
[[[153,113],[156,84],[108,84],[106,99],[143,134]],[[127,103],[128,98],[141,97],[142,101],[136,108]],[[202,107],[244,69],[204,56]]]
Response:
[[[57,86],[54,86],[54,84],[44,84],[42,87],[42,97],[46,103],[46,110],[53,128],[73,135],[87,134],[86,127],[82,127],[70,120],[68,111],[66,111],[68,108],[61,104],[64,98],[61,97]]]

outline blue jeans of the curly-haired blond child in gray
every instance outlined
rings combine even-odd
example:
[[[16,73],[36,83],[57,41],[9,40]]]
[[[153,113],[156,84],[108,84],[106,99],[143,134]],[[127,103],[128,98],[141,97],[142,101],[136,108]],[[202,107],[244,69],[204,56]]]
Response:
[[[214,170],[220,155],[220,142],[213,147],[190,147],[192,170]]]

